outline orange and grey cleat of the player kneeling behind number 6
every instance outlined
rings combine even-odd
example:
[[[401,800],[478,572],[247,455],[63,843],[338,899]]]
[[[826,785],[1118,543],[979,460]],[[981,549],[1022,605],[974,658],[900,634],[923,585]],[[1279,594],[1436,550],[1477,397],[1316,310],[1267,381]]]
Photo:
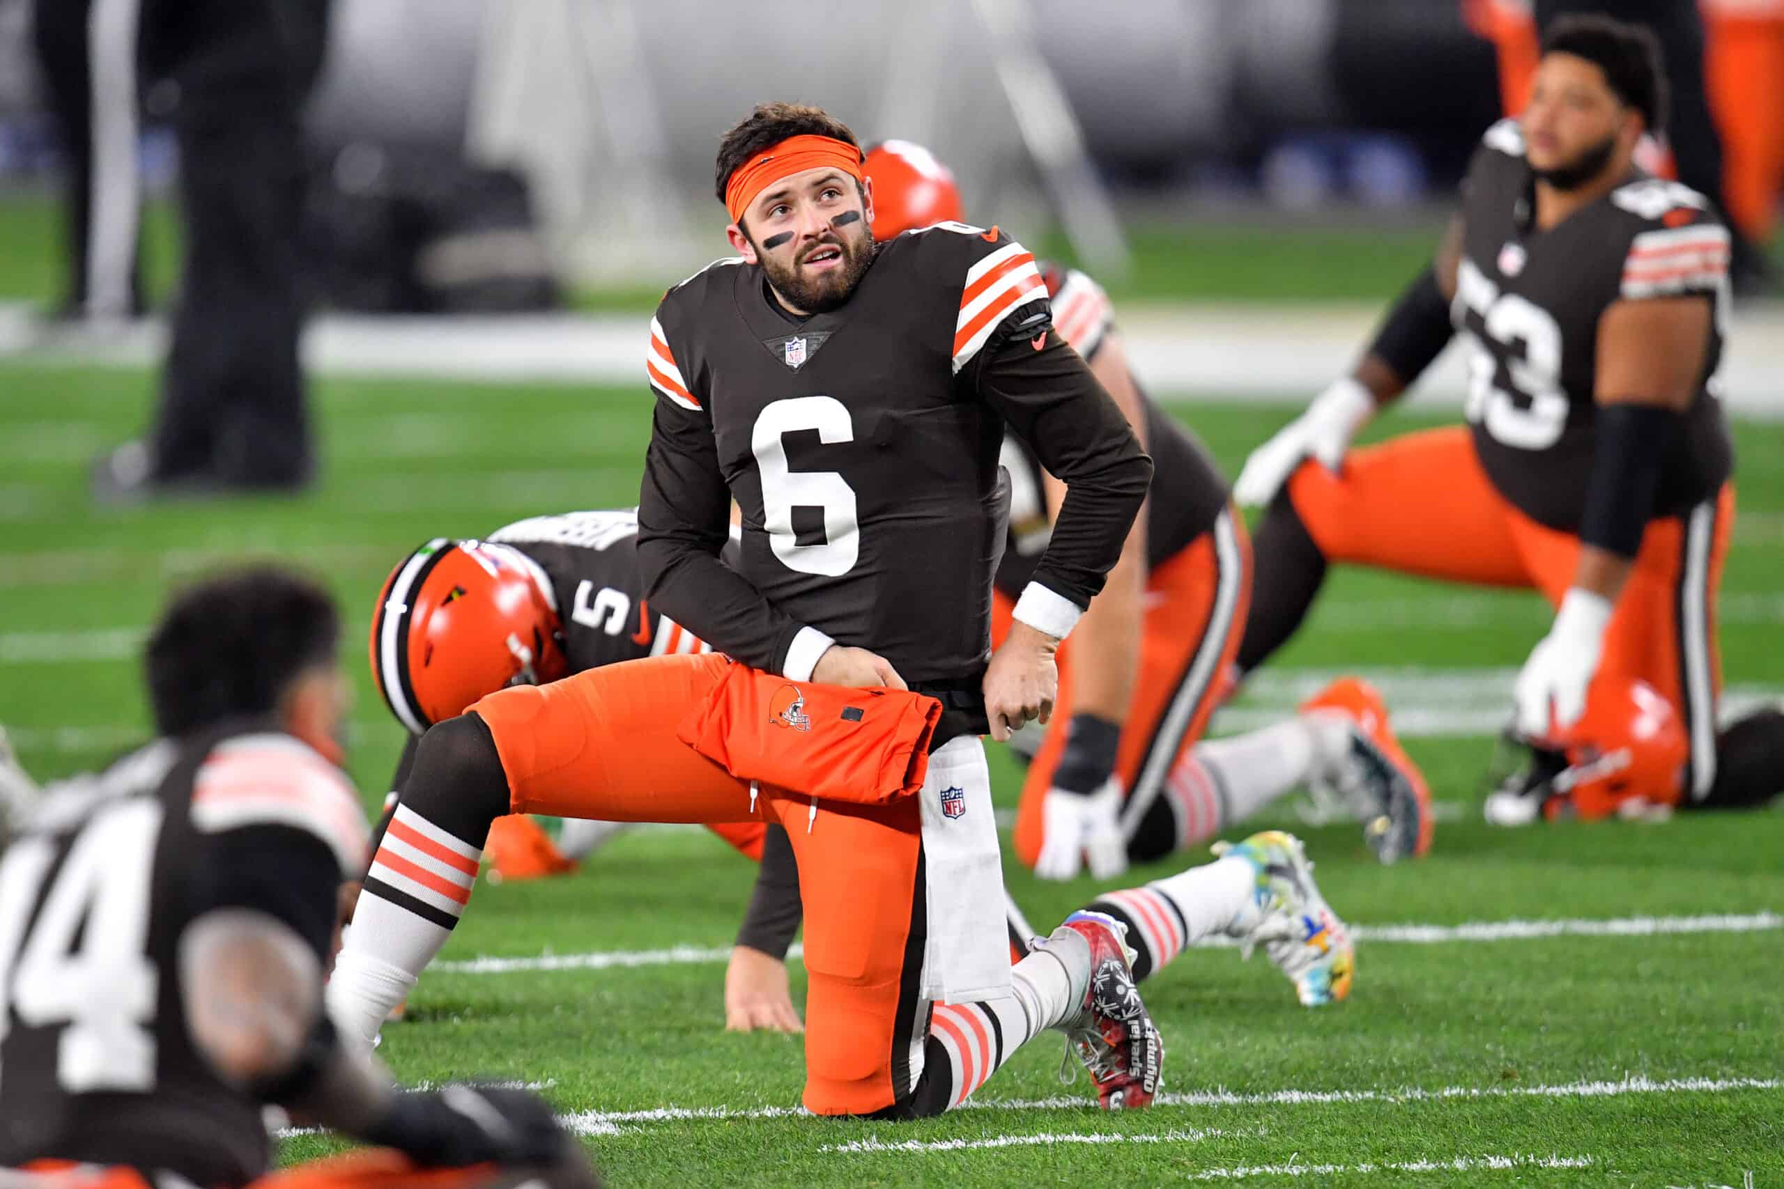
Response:
[[[1436,815],[1431,786],[1388,726],[1388,704],[1361,677],[1340,677],[1301,704],[1301,713],[1334,711],[1350,720],[1350,754],[1340,795],[1363,822],[1363,840],[1383,863],[1431,850]]]

